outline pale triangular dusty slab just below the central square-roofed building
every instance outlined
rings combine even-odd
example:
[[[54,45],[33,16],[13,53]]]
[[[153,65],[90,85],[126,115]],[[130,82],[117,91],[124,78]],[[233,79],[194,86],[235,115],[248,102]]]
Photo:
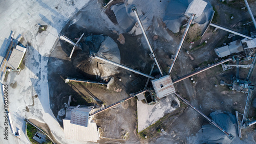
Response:
[[[164,98],[160,99],[155,105],[144,104],[137,100],[138,132],[156,123],[165,114],[174,111],[175,108],[171,106],[173,100],[180,106],[180,101],[174,95],[168,95],[167,99],[169,101]]]

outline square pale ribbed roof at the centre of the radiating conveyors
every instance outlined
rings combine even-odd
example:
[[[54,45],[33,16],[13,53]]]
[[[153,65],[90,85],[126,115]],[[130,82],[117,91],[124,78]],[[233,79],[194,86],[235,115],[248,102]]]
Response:
[[[174,84],[170,76],[164,76],[151,81],[159,99],[175,92]]]

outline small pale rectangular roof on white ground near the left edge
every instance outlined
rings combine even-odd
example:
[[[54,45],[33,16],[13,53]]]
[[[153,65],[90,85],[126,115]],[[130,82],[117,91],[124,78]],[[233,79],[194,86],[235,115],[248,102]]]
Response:
[[[19,64],[22,62],[22,58],[25,55],[26,50],[26,48],[17,45],[15,49],[12,50],[7,66],[17,69]]]

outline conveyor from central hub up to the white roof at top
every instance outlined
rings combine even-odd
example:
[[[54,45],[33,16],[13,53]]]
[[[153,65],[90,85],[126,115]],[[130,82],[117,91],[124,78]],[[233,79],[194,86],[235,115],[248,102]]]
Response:
[[[181,50],[181,47],[182,47],[182,45],[183,45],[183,43],[184,43],[184,40],[185,40],[185,38],[186,38],[186,36],[187,36],[188,30],[189,30],[189,28],[190,28],[190,26],[191,26],[191,23],[192,23],[194,17],[195,17],[195,14],[192,14],[191,17],[190,17],[189,20],[188,20],[187,27],[186,27],[186,29],[185,29],[185,32],[184,32],[182,38],[181,38],[181,41],[180,41],[180,44],[179,44],[179,46],[178,46],[177,52],[176,52],[176,54],[175,54],[174,60],[173,60],[172,64],[170,65],[170,69],[169,69],[169,71],[168,71],[168,75],[170,75],[170,73],[172,73],[172,70],[173,70],[173,68],[174,68],[174,64],[175,64],[175,62],[176,62],[176,60],[177,60],[177,58],[178,58],[178,55],[179,55],[180,50]]]

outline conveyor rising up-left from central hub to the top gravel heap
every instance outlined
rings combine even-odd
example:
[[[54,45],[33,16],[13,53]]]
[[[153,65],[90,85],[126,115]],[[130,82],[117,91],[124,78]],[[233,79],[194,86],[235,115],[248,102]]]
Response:
[[[139,23],[140,29],[141,29],[142,34],[144,35],[144,37],[145,37],[145,39],[146,39],[146,43],[147,43],[148,47],[150,47],[150,51],[151,51],[151,53],[152,53],[152,56],[153,56],[153,58],[154,58],[154,60],[155,60],[155,62],[156,62],[156,64],[157,64],[157,68],[159,69],[159,72],[160,72],[161,76],[163,76],[162,69],[161,69],[160,64],[159,64],[159,62],[158,62],[158,60],[157,60],[156,53],[154,52],[154,50],[153,50],[153,48],[152,48],[152,45],[151,45],[151,43],[150,43],[150,40],[148,40],[148,37],[147,37],[146,32],[145,32],[145,30],[144,30],[144,28],[143,28],[143,26],[142,26],[142,22],[141,22],[141,20],[140,20],[140,17],[139,17],[139,15],[138,15],[138,12],[137,12],[137,9],[136,9],[135,6],[132,7],[132,11],[135,13],[137,22]]]

